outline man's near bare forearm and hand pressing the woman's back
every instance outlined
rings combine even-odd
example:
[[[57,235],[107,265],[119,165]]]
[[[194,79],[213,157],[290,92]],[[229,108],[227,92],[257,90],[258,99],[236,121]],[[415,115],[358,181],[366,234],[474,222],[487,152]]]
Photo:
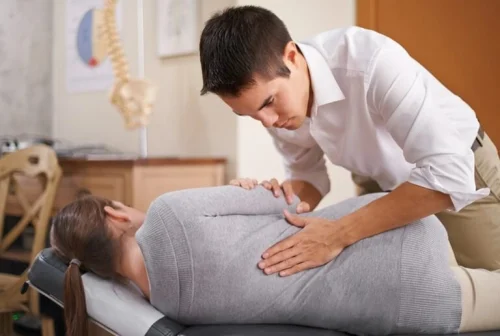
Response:
[[[402,227],[452,205],[449,195],[405,182],[335,222],[285,213],[291,224],[303,229],[265,251],[259,267],[266,274],[280,272],[282,276],[317,267],[361,239]]]

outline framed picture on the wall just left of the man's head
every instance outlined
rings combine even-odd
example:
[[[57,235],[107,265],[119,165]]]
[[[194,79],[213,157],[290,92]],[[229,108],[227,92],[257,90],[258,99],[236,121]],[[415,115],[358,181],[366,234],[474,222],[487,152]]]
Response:
[[[158,56],[198,52],[198,0],[156,0]]]

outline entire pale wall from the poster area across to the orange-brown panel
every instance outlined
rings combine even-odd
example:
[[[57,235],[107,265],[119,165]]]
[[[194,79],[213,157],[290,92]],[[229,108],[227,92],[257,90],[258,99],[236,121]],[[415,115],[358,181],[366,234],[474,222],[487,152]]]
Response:
[[[136,1],[122,0],[121,33],[131,72],[137,74]],[[159,85],[148,128],[149,155],[206,156],[229,159],[229,177],[283,178],[281,159],[262,126],[236,118],[213,95],[199,96],[201,73],[197,55],[159,59],[156,56],[156,0],[144,0],[145,73]],[[295,39],[322,30],[354,24],[354,0],[199,0],[200,30],[212,13],[230,5],[260,5],[275,11]],[[54,121],[56,138],[75,144],[103,143],[138,152],[137,131],[127,131],[107,92],[67,94],[64,65],[64,1],[54,5]],[[348,172],[329,165],[333,191],[323,204],[354,195]]]

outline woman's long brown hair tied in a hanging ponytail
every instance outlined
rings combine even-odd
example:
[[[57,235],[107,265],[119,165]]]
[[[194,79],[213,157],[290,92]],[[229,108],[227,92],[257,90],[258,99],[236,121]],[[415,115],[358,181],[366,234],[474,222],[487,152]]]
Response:
[[[51,246],[69,265],[64,274],[66,335],[87,336],[88,319],[82,271],[117,279],[118,242],[106,224],[111,201],[84,196],[62,208],[52,221]]]

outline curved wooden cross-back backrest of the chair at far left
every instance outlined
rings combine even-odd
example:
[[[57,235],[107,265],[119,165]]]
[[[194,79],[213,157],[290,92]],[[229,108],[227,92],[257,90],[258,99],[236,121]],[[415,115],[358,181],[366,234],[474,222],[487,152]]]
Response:
[[[0,255],[25,231],[31,223],[34,228],[31,258],[45,247],[49,219],[52,214],[62,169],[55,151],[46,145],[34,145],[0,157]],[[43,183],[42,192],[34,202],[22,190],[19,177],[37,178]],[[15,196],[24,215],[2,237],[5,207],[9,195]]]

